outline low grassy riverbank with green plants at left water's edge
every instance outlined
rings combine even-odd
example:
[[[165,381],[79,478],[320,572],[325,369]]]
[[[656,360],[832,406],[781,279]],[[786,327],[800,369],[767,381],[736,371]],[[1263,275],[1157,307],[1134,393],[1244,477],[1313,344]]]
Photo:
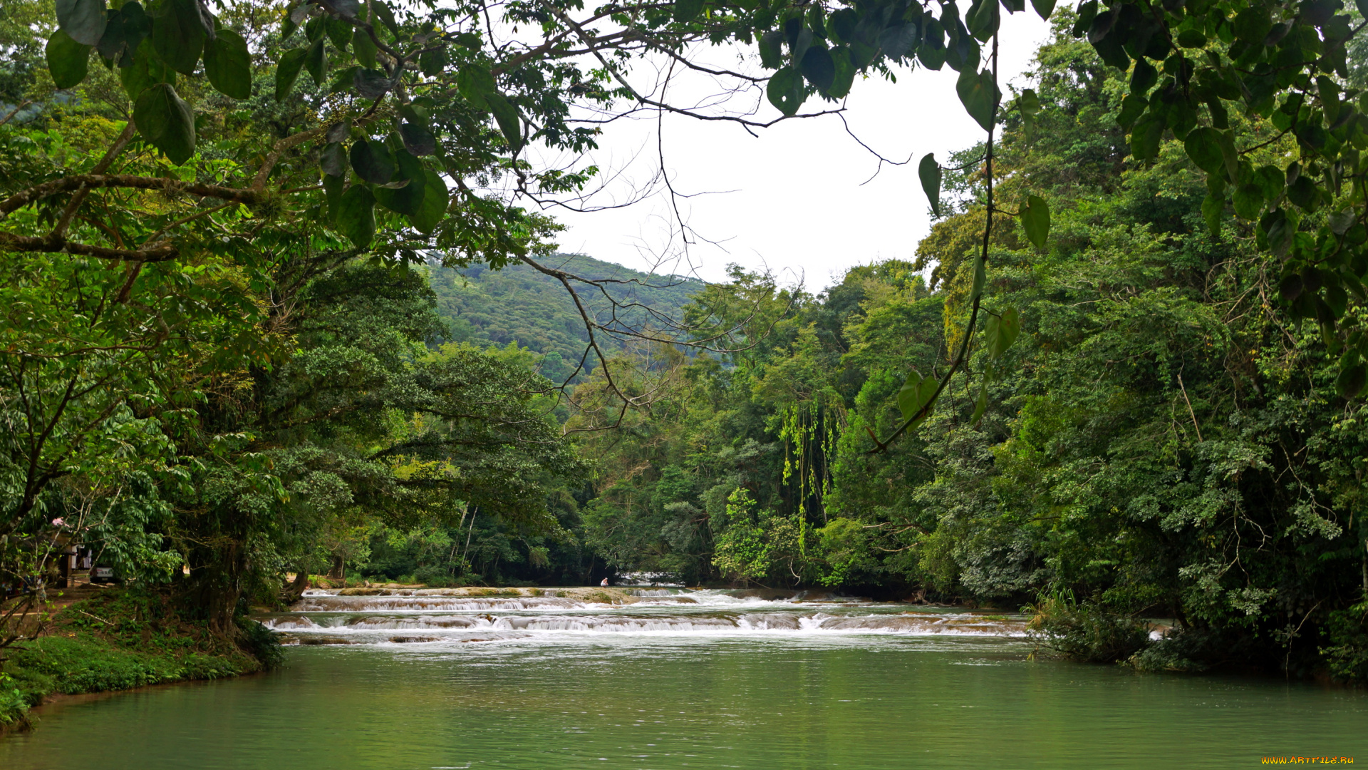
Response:
[[[279,655],[259,623],[228,638],[178,617],[157,593],[104,591],[62,607],[48,623],[38,640],[5,651],[0,734],[27,729],[29,708],[53,696],[237,677]]]

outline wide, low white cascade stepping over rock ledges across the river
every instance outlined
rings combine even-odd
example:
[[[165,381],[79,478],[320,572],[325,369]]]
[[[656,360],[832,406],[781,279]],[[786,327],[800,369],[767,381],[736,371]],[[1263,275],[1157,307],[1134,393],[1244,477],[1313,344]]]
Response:
[[[1025,633],[1019,617],[795,591],[309,591],[289,612],[260,619],[282,633],[286,644],[554,643],[607,634],[687,640]]]

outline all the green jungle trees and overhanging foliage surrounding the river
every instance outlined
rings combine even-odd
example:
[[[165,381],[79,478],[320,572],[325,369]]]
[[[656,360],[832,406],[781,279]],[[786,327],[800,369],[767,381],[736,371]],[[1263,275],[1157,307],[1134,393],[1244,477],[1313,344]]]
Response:
[[[1361,15],[1033,8],[1055,37],[1004,100],[1023,1],[517,0],[498,27],[476,1],[7,3],[7,581],[97,544],[246,640],[290,574],[663,571],[1031,603],[1081,658],[1364,680]],[[558,266],[529,201],[598,170],[523,148],[594,147],[584,107],[695,114],[629,79],[695,45],[758,53],[735,74],[778,119],[959,71],[985,140],[922,159],[917,262],[818,295],[666,280],[635,318]],[[580,329],[453,299],[447,270],[514,264]]]

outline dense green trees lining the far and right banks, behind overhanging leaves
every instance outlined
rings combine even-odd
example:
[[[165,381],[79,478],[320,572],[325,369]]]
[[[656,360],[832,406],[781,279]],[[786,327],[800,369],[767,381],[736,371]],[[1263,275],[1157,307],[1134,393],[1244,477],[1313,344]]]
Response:
[[[870,452],[869,430],[904,418],[908,371],[941,374],[963,333],[984,179],[948,178],[918,264],[859,267],[818,296],[743,271],[709,286],[685,314],[758,301],[744,322],[770,333],[721,359],[654,351],[666,395],[584,438],[592,485],[562,522],[590,552],[486,567],[546,580],[596,555],[688,582],[1036,603],[1044,638],[1081,658],[1363,678],[1361,401],[1337,392],[1320,329],[1271,312],[1279,260],[1250,225],[1227,212],[1211,232],[1182,144],[1127,160],[1124,81],[1090,47],[1056,36],[1034,75],[1052,138],[1008,125],[999,195],[1044,192],[1055,237],[996,230],[984,307],[1023,319],[1004,364],[979,351],[970,384]],[[1152,644],[1140,618],[1156,617],[1178,632]]]

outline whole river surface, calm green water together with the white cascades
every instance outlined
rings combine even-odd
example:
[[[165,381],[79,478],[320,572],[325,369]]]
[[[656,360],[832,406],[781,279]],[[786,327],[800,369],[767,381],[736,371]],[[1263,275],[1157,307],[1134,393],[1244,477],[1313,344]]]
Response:
[[[1368,763],[1363,692],[1030,660],[1029,643],[1001,636],[1010,622],[725,596],[617,608],[341,599],[268,623],[349,644],[293,647],[269,674],[52,707],[0,740],[0,767]]]

